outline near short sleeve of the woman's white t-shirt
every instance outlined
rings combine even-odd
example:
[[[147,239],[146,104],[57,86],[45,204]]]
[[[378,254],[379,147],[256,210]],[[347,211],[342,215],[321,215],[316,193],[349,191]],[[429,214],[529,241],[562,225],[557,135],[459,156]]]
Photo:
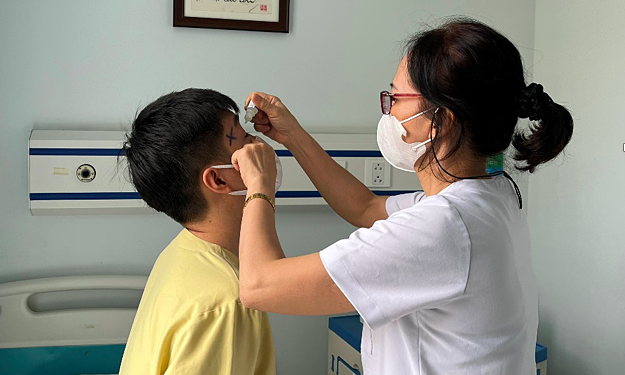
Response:
[[[321,251],[328,274],[373,329],[464,293],[471,241],[441,196],[355,231]]]

